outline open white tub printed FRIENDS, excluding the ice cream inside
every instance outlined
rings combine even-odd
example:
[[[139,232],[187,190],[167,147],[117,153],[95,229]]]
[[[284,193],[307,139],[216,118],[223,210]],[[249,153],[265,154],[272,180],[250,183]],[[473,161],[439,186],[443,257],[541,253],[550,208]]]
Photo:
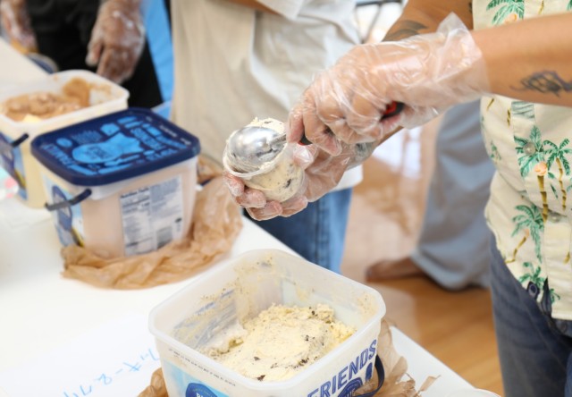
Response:
[[[272,304],[334,309],[357,331],[284,381],[242,376],[201,353]],[[172,396],[349,397],[373,376],[385,304],[378,291],[279,249],[251,250],[195,277],[149,315]]]

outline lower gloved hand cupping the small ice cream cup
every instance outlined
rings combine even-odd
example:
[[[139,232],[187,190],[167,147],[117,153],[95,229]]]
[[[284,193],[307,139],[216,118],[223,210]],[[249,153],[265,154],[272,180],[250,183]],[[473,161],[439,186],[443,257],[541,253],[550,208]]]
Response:
[[[373,148],[374,145],[368,145],[357,153],[354,146],[344,145],[344,150],[339,156],[330,156],[315,145],[297,145],[292,161],[304,170],[304,180],[299,190],[290,199],[282,202],[266,199],[261,190],[248,188],[239,177],[226,170],[223,172],[224,182],[234,200],[241,207],[245,207],[254,219],[290,216],[306,208],[308,202],[315,201],[332,190],[340,182],[346,169],[363,161],[371,154],[370,150],[373,151]],[[364,151],[369,152],[364,153]]]

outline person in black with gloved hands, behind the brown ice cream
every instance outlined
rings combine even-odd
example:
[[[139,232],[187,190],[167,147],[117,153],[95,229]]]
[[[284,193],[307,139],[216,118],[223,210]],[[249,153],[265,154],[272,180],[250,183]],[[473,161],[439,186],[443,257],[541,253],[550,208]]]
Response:
[[[140,0],[0,0],[4,34],[60,71],[90,70],[130,92],[129,105],[163,102]]]

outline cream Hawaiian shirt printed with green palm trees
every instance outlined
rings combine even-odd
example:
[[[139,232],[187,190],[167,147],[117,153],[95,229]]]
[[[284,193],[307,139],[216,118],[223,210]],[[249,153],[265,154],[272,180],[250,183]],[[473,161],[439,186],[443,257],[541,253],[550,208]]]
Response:
[[[473,1],[475,30],[565,12],[572,0]],[[548,283],[552,317],[572,320],[572,109],[484,97],[481,125],[497,169],[485,215],[498,248],[537,301]]]

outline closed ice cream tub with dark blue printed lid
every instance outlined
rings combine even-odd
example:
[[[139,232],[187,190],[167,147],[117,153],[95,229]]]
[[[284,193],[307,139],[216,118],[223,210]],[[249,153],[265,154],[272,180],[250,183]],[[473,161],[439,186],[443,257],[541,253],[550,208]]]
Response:
[[[102,258],[145,254],[187,234],[199,150],[195,136],[139,108],[31,142],[60,241]]]

